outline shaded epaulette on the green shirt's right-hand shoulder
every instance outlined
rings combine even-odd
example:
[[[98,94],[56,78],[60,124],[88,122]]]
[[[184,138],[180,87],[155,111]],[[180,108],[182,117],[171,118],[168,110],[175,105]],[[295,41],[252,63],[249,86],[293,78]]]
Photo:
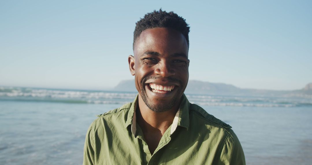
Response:
[[[192,117],[193,120],[195,119],[197,122],[205,124],[207,127],[224,131],[228,135],[233,133],[233,130],[231,129],[232,127],[230,125],[207,113],[202,107],[196,104],[190,104],[189,111],[190,117]]]

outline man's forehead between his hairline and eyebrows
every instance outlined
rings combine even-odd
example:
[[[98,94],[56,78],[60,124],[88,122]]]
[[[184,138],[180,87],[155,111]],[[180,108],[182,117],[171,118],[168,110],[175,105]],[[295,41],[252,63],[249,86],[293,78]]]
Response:
[[[152,28],[143,31],[134,43],[134,55],[146,51],[159,54],[184,53],[188,55],[188,44],[182,33],[171,28]]]

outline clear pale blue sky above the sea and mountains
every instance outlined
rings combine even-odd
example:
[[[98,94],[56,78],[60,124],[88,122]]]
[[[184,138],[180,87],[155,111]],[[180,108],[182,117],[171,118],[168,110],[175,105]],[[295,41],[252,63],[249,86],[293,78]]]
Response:
[[[108,89],[133,79],[135,22],[190,24],[190,80],[292,90],[312,82],[312,1],[0,1],[0,85]]]

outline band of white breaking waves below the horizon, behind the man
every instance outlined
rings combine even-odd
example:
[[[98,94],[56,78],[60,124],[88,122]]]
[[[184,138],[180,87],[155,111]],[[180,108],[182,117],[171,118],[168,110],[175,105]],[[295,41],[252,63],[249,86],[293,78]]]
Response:
[[[0,87],[0,100],[88,103],[88,104],[124,104],[132,102],[137,93],[114,91],[82,91],[36,88]],[[202,106],[235,107],[312,107],[312,99],[305,98],[270,98],[187,95],[191,103]]]

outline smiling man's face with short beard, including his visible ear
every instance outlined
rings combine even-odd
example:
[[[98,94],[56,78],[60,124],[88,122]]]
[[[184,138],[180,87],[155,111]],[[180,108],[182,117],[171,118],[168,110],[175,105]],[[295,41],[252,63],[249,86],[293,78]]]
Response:
[[[178,108],[188,83],[188,44],[169,28],[143,31],[134,44],[129,66],[144,103],[153,111]]]

